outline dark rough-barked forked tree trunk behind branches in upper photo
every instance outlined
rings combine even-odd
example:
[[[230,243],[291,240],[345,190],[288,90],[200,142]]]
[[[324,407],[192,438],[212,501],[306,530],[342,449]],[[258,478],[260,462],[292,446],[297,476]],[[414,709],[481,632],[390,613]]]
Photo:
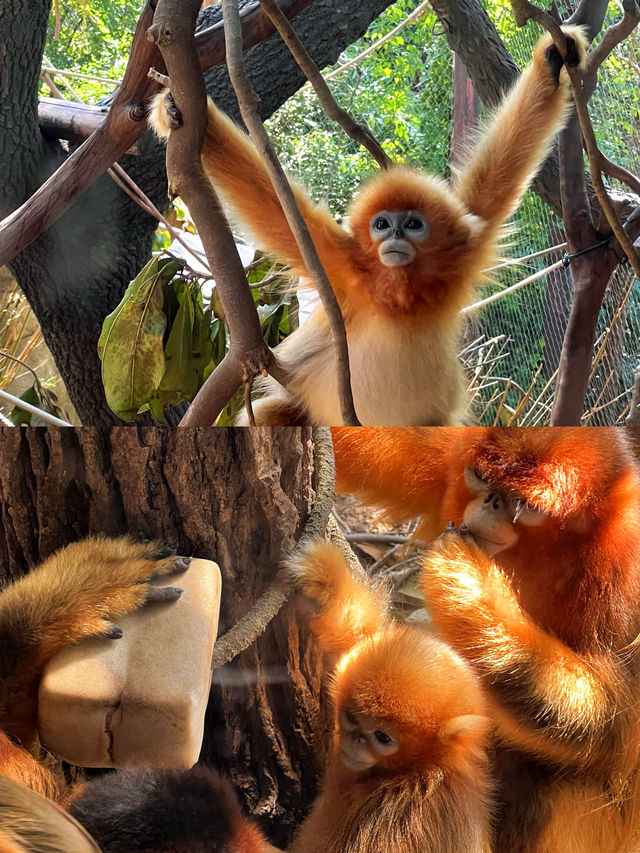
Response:
[[[294,19],[314,60],[324,67],[359,38],[392,0],[316,0]],[[243,4],[244,5],[244,4]],[[65,152],[38,127],[37,83],[51,0],[0,4],[0,218],[19,206],[57,168]],[[219,20],[218,6],[200,26]],[[278,36],[247,54],[247,67],[268,117],[304,82]],[[207,88],[237,113],[226,68],[206,74]],[[166,204],[164,151],[149,136],[122,165],[159,207]],[[12,264],[40,322],[82,423],[113,424],[100,381],[96,343],[104,317],[149,258],[155,221],[103,177],[53,228]]]

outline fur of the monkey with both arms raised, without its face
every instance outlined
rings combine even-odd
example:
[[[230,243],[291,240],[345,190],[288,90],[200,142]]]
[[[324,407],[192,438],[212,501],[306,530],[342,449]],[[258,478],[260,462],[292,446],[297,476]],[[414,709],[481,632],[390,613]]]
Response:
[[[578,61],[584,56],[584,38],[575,28],[566,31],[574,39]],[[496,255],[502,224],[564,123],[570,87],[559,55],[549,58],[554,50],[548,36],[541,39],[532,63],[451,186],[417,169],[395,166],[363,186],[349,210],[347,230],[326,207],[294,187],[344,316],[361,423],[460,422],[465,395],[456,357],[459,311],[472,299],[474,284]],[[149,122],[158,135],[168,135],[163,94],[152,104]],[[215,187],[258,244],[308,278],[260,156],[213,104],[202,159]],[[369,232],[372,216],[381,210],[414,210],[426,218],[430,233],[415,247],[410,263],[381,263]],[[326,314],[318,307],[277,348],[290,381],[286,390],[272,379],[259,383],[264,396],[254,405],[257,423],[342,423],[331,341]]]

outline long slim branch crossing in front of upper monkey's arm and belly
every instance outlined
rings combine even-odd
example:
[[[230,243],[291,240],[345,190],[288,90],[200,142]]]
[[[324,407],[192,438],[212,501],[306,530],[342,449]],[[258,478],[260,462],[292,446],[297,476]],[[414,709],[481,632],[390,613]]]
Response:
[[[349,371],[347,335],[338,300],[325,273],[304,219],[295,202],[291,186],[282,170],[264,125],[258,114],[258,98],[249,82],[242,57],[242,36],[237,0],[222,0],[224,28],[227,45],[227,68],[238,98],[240,112],[251,139],[265,161],[271,183],[278,196],[282,210],[294,235],[305,267],[320,295],[323,308],[331,326],[331,336],[336,352],[338,368],[338,395],[344,424],[358,426],[359,421],[353,406]]]

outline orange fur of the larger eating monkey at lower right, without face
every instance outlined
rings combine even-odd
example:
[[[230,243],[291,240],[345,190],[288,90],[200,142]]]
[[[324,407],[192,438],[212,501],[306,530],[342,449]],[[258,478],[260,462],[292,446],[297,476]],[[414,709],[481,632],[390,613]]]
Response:
[[[482,679],[497,726],[495,853],[640,844],[640,475],[616,428],[334,430],[338,484],[459,526],[464,469],[546,516],[488,557],[447,534],[424,559],[439,634]]]

